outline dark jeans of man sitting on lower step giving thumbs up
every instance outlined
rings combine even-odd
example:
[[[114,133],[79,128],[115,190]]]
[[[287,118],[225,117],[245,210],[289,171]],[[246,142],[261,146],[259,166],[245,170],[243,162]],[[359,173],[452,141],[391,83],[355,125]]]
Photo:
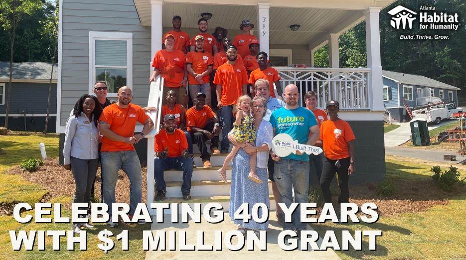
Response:
[[[192,159],[184,159],[182,156],[179,157],[166,157],[160,159],[155,157],[154,160],[154,176],[157,182],[156,190],[166,192],[165,180],[163,179],[163,172],[169,169],[182,170],[183,171],[183,184],[181,185],[181,193],[184,194],[189,192],[191,189],[191,177],[192,177]]]

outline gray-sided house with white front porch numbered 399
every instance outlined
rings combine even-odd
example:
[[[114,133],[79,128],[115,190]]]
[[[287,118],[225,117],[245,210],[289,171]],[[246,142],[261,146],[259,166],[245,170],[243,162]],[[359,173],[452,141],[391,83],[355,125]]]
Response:
[[[182,29],[192,37],[198,33],[201,14],[210,13],[209,33],[222,26],[233,38],[243,19],[255,24],[260,48],[270,54],[283,87],[296,84],[302,92],[318,92],[319,107],[330,99],[339,100],[340,117],[349,122],[357,137],[357,174],[350,178],[351,183],[383,181],[379,12],[392,2],[60,0],[56,126],[60,143],[73,105],[82,94],[92,93],[96,80],[108,81],[110,97],[116,97],[119,87],[129,86],[133,102],[147,106],[151,61],[161,48],[163,33],[171,29],[173,15],[182,17]],[[339,68],[339,35],[364,20],[368,67]],[[292,24],[299,24],[299,30],[292,31]],[[325,44],[330,68],[312,68],[314,52]],[[291,64],[307,64],[307,68],[289,67]],[[141,129],[138,126],[136,131]],[[137,149],[143,147],[138,151],[142,163],[147,160],[144,142],[137,145]]]

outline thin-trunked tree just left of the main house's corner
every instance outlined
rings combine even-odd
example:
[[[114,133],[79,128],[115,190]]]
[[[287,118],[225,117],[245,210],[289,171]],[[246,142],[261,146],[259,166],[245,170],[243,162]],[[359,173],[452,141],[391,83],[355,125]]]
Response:
[[[52,92],[52,77],[53,73],[53,67],[55,65],[55,58],[58,54],[58,0],[55,0],[55,2],[45,2],[46,5],[49,8],[54,8],[54,11],[48,15],[45,20],[41,21],[42,28],[40,29],[39,33],[42,38],[48,39],[49,45],[48,45],[48,54],[50,56],[50,60],[52,62],[52,69],[50,71],[50,82],[48,86],[48,102],[47,102],[47,116],[45,117],[45,128],[44,128],[44,133],[47,132],[47,127],[48,127],[48,119],[49,119],[49,114],[50,114],[50,99],[51,99],[51,92]],[[57,119],[58,120],[58,119]]]

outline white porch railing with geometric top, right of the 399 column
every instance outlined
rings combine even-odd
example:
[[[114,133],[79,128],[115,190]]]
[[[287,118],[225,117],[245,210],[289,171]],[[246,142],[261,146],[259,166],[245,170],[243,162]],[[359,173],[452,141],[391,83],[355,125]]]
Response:
[[[275,67],[280,77],[282,88],[289,84],[298,86],[301,93],[301,105],[308,91],[317,94],[317,107],[325,107],[329,100],[340,103],[340,109],[370,109],[370,86],[368,85],[368,68],[289,68]]]

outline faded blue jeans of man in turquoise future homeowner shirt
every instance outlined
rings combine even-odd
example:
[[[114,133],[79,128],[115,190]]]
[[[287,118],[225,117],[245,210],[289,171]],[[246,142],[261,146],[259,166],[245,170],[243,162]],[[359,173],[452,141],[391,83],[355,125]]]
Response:
[[[280,201],[288,208],[293,203],[293,191],[295,190],[295,202],[308,202],[309,189],[309,162],[283,159],[275,162],[275,184],[280,192]],[[292,223],[283,223],[283,230],[307,229],[306,223],[301,223],[300,206],[293,213]]]

